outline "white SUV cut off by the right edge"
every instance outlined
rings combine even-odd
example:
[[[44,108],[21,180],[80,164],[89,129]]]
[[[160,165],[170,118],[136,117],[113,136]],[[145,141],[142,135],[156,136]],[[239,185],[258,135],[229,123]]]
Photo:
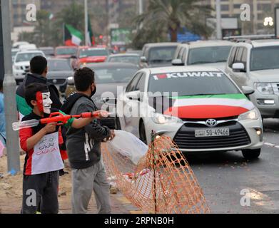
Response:
[[[255,88],[250,100],[263,118],[279,117],[279,40],[238,41],[225,72],[240,88]]]

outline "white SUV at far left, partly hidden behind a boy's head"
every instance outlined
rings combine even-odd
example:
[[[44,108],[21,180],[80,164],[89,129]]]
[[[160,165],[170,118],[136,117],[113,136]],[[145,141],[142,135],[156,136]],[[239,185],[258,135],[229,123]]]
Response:
[[[20,51],[14,57],[13,73],[16,83],[24,81],[26,73],[29,72],[30,61],[35,56],[44,56],[42,51]]]

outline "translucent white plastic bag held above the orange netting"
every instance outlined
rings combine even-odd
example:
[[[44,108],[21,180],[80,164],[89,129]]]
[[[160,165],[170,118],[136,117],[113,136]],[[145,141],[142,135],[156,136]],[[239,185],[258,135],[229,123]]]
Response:
[[[148,152],[148,146],[135,135],[122,130],[116,130],[116,137],[108,142],[108,146],[121,155],[128,157],[134,165],[138,165],[141,157]]]

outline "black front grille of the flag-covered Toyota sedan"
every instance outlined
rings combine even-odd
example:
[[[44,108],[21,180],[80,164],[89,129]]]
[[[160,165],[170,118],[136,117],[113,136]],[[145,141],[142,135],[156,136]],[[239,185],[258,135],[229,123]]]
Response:
[[[186,123],[178,131],[174,142],[178,145],[180,149],[220,149],[225,147],[240,147],[243,145],[249,145],[251,140],[248,133],[243,128],[240,123],[236,121],[230,121],[225,123],[220,123],[215,128],[229,128],[229,136],[220,137],[205,137],[196,138],[195,130],[201,128],[208,128],[206,125],[201,125],[198,123]]]

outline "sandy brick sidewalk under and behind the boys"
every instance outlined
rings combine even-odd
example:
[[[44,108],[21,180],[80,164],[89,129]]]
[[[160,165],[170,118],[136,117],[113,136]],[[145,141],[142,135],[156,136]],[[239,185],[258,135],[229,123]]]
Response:
[[[21,166],[24,164],[24,155],[21,156]],[[6,175],[6,156],[0,158],[0,214],[19,214],[21,210],[22,173],[16,176]],[[21,167],[22,170],[22,167]],[[65,171],[69,174],[60,177],[59,181],[59,212],[71,214],[71,170],[66,165]],[[111,207],[113,214],[141,214],[131,202],[123,197],[121,192],[111,195]],[[92,193],[88,214],[96,214],[96,202]]]

